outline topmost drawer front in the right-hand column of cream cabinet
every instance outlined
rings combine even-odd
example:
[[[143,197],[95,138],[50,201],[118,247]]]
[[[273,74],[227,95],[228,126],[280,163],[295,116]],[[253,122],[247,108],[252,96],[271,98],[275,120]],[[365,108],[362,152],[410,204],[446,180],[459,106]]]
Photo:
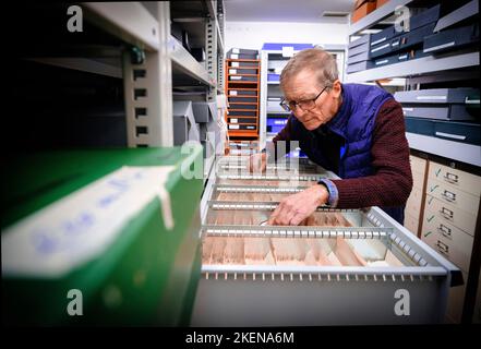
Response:
[[[474,196],[481,195],[481,177],[479,176],[431,161],[429,177]]]

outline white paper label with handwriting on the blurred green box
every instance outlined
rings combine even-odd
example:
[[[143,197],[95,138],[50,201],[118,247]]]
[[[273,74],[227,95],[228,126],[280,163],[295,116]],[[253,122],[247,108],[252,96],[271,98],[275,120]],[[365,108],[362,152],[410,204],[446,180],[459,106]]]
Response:
[[[101,255],[122,228],[155,198],[173,228],[173,166],[122,167],[25,217],[2,233],[2,275],[59,277]]]

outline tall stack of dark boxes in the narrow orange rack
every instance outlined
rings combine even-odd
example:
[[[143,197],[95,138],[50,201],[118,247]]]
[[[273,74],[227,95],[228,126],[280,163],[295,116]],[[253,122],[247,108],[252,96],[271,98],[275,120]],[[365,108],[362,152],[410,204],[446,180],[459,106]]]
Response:
[[[232,48],[227,52],[226,113],[230,140],[258,139],[261,64],[258,51]]]

